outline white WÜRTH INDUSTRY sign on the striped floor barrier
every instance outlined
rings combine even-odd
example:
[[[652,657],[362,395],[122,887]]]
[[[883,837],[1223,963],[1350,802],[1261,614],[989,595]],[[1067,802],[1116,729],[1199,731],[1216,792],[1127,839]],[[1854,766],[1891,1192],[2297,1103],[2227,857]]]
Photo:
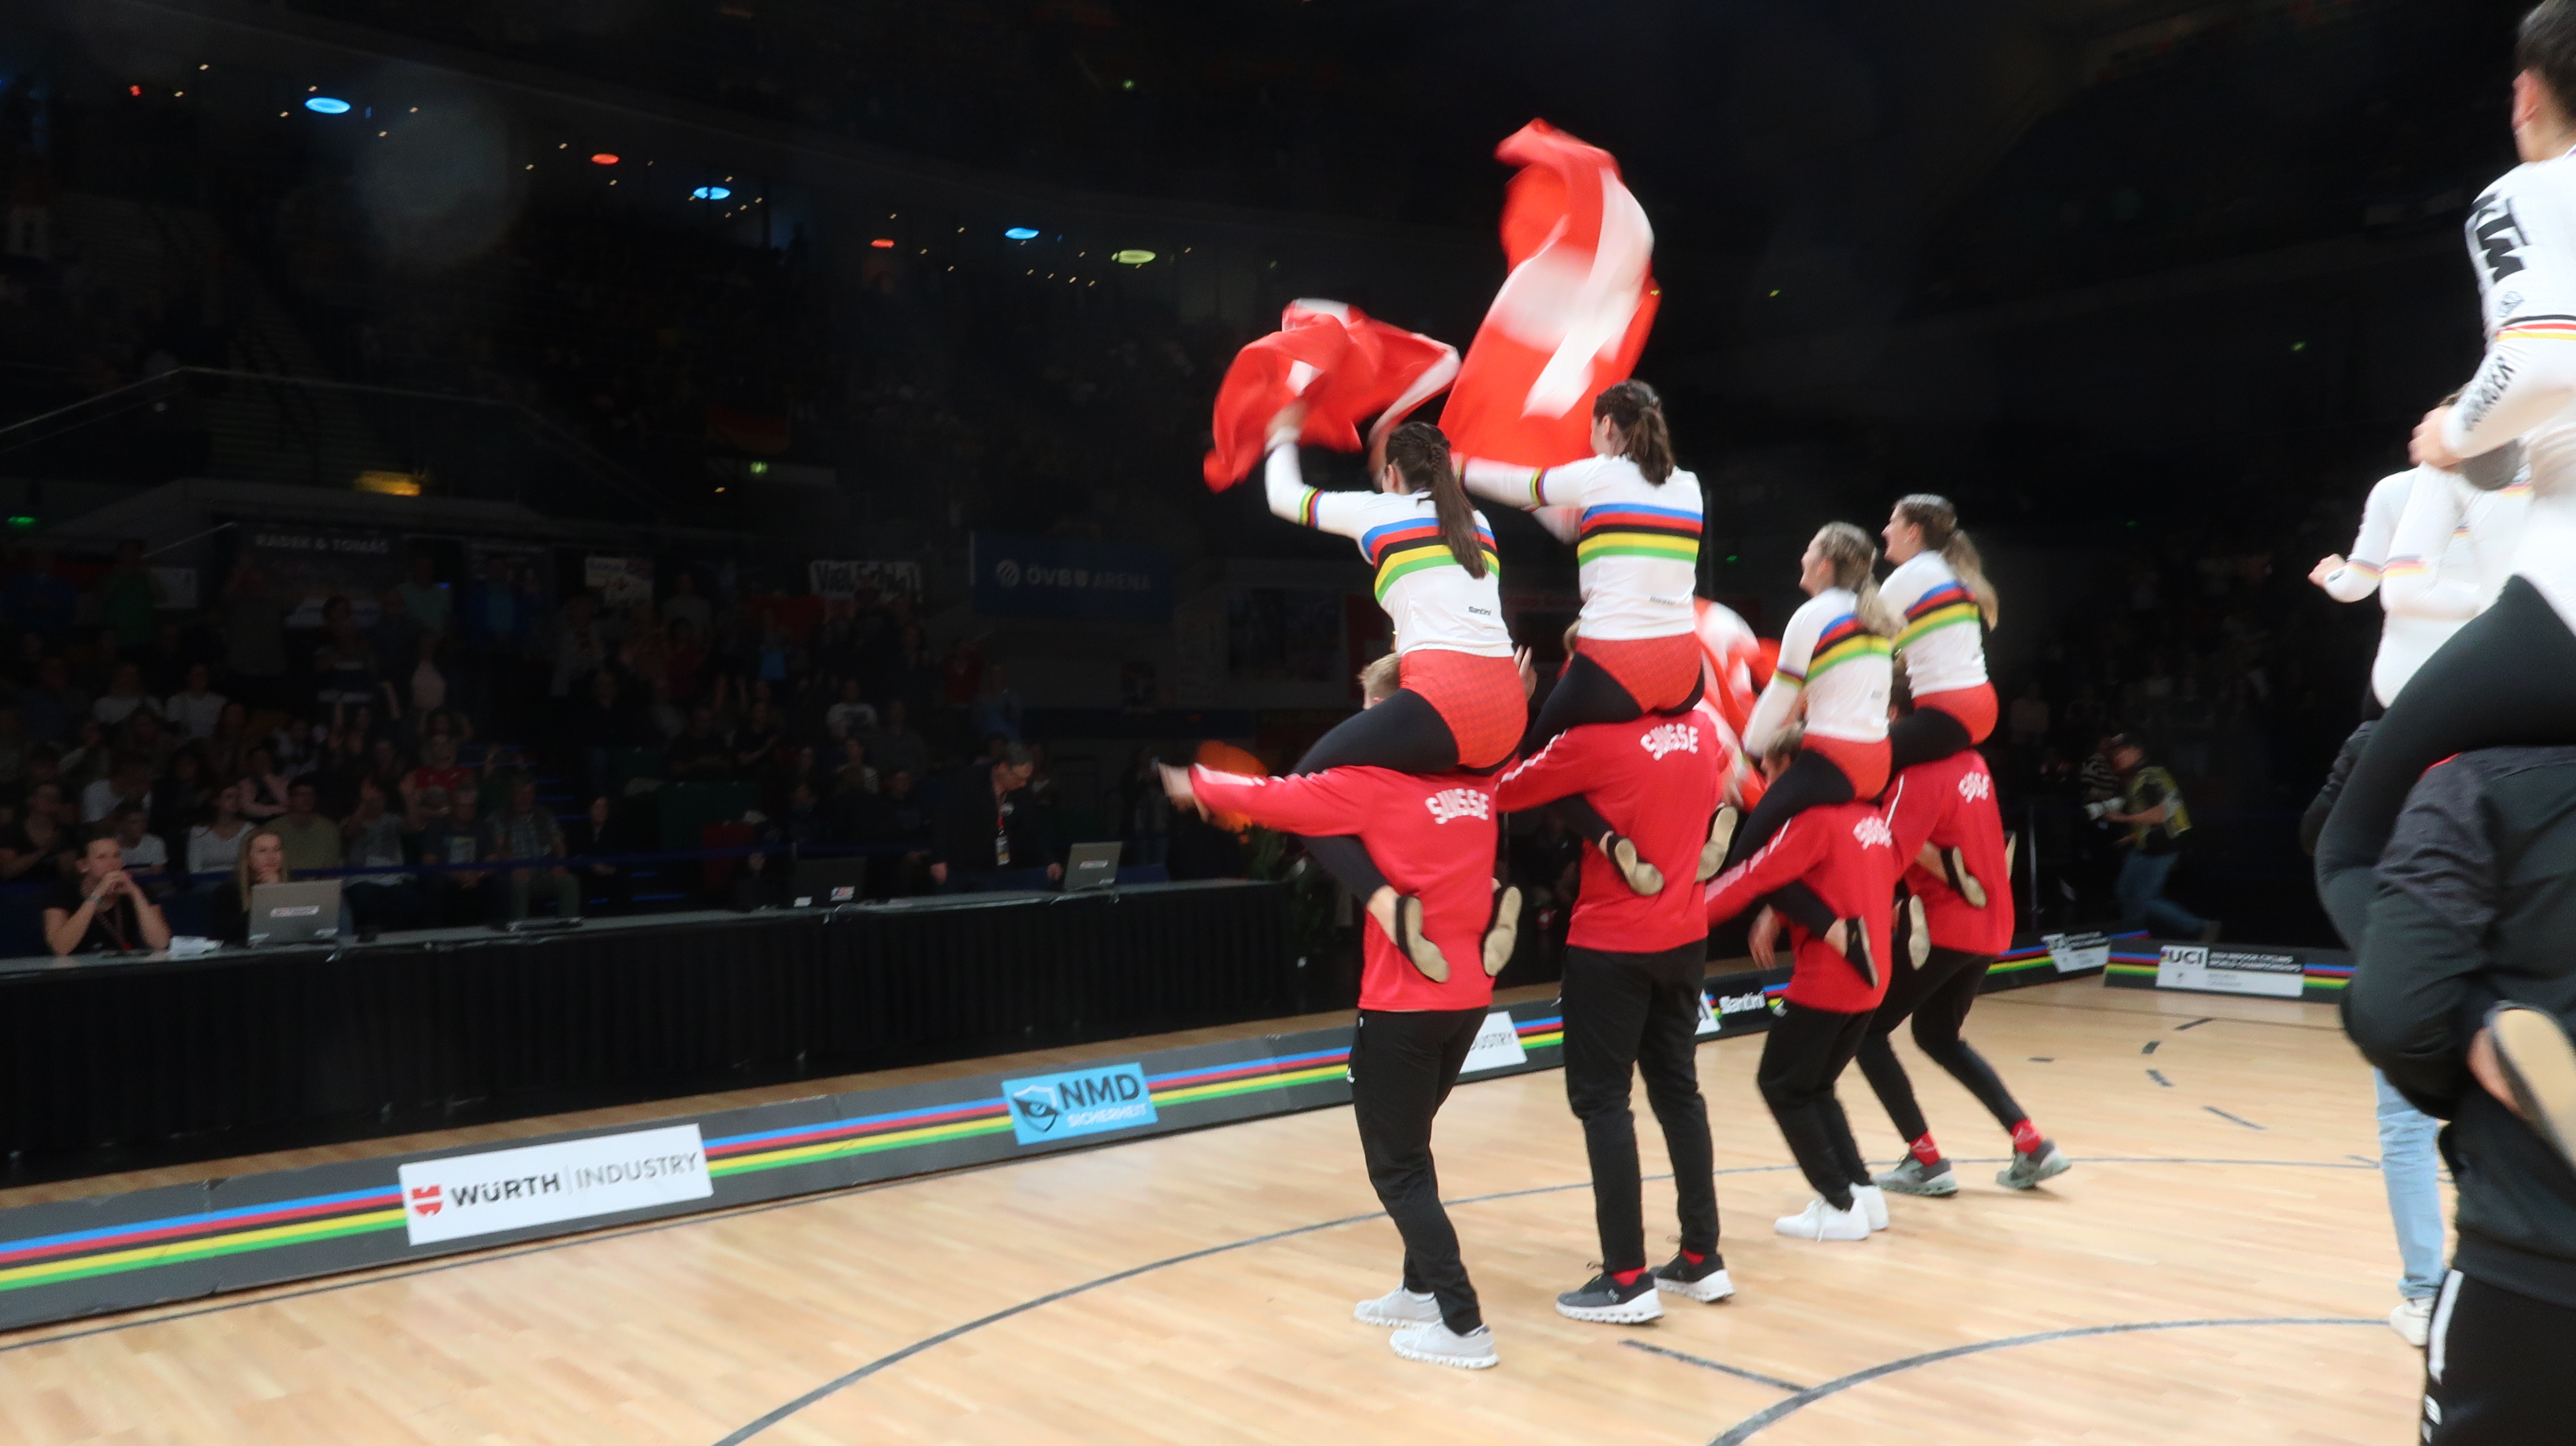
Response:
[[[696,1124],[417,1160],[399,1175],[412,1245],[716,1193]]]

